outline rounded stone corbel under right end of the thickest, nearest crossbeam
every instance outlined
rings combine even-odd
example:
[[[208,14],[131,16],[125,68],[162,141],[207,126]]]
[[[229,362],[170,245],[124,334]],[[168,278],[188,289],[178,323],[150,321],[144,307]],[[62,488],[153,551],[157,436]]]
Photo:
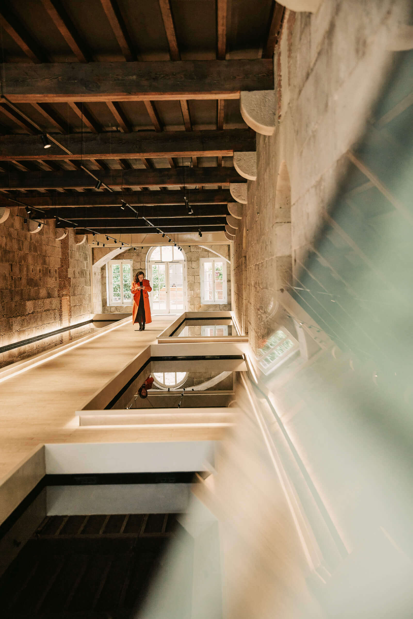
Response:
[[[276,130],[276,91],[252,90],[241,92],[241,116],[248,127],[263,136],[272,136]]]

